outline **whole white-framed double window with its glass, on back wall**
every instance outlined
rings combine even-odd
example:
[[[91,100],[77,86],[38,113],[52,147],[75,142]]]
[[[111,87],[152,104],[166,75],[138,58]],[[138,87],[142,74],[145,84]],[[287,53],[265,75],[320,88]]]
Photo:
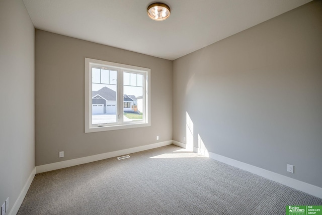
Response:
[[[85,132],[150,126],[150,69],[85,58]]]

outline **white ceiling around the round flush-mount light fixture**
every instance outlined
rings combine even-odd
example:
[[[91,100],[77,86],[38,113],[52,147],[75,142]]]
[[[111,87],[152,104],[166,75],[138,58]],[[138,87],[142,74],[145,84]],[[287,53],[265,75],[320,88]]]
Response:
[[[165,21],[151,0],[23,0],[37,29],[169,60],[248,29],[311,0],[167,0]]]

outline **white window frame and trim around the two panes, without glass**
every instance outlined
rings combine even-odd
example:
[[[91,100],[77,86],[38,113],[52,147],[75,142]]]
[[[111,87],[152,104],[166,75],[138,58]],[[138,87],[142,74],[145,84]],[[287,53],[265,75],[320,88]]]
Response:
[[[92,124],[92,66],[106,67],[118,71],[116,99],[117,114],[119,115],[118,123],[103,124],[104,126],[100,127]],[[123,72],[143,74],[142,121],[123,122]],[[151,70],[148,68],[85,58],[85,133],[151,126],[150,73]]]

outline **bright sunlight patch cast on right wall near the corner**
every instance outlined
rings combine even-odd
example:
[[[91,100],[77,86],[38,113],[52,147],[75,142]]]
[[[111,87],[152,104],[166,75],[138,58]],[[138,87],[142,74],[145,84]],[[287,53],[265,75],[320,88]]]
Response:
[[[194,132],[193,122],[192,122],[188,112],[186,112],[186,137],[187,137],[186,149],[189,151],[194,151],[194,152],[201,154],[203,156],[209,157],[208,150],[207,150],[203,140],[201,139],[200,134],[197,134],[198,135],[198,147],[195,147],[193,132]]]

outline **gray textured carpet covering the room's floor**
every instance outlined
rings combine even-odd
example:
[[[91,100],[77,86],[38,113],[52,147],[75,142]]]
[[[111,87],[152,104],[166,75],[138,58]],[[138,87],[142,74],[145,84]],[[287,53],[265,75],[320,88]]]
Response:
[[[170,145],[37,174],[18,214],[285,214],[322,199]]]

